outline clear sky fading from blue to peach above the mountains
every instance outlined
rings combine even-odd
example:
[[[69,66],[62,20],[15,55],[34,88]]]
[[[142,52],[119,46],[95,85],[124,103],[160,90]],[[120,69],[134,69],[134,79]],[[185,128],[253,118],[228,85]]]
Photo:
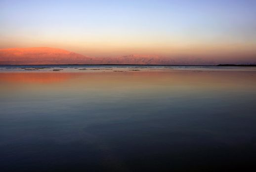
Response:
[[[256,61],[256,0],[0,0],[0,48]]]

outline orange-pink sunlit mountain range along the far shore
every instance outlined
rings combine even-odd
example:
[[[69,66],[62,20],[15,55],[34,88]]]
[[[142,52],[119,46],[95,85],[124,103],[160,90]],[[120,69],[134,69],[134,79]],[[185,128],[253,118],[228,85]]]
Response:
[[[201,59],[171,59],[156,55],[130,55],[124,57],[86,57],[55,48],[0,49],[0,64],[207,64]]]

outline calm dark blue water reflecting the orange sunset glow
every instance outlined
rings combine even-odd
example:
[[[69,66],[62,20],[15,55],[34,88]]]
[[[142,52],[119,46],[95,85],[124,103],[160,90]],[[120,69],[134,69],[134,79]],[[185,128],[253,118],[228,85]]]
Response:
[[[0,66],[1,172],[255,164],[256,68]]]

